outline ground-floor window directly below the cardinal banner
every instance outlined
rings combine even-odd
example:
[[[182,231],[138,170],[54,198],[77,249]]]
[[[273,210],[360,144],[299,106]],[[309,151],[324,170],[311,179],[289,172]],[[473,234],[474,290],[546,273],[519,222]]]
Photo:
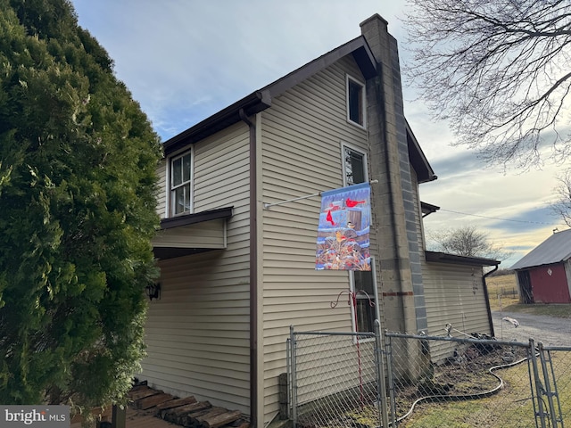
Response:
[[[373,272],[356,270],[351,272],[351,291],[355,293],[356,306],[352,310],[353,328],[356,333],[375,331],[377,318],[377,291]]]

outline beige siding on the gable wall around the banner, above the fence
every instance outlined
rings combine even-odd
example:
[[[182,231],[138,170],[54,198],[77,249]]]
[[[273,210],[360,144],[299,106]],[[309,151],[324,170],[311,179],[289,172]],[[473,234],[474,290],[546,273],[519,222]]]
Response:
[[[367,153],[367,131],[347,121],[347,72],[363,80],[352,57],[345,57],[278,96],[262,112],[263,202],[341,187],[342,143]],[[277,377],[285,371],[289,326],[352,329],[347,296],[331,308],[339,292],[349,290],[349,274],[315,270],[319,211],[319,197],[262,211],[265,423],[278,410]]]

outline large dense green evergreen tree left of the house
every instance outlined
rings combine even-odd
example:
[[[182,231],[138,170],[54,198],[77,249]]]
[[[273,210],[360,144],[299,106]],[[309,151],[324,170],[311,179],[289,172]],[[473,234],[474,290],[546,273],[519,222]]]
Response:
[[[0,0],[0,403],[124,398],[160,156],[69,0]]]

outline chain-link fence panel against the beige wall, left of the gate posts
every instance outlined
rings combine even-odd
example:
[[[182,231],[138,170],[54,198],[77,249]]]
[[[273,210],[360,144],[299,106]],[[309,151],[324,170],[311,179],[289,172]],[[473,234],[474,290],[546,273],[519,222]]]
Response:
[[[355,426],[364,417],[381,424],[382,361],[375,333],[297,333],[292,330],[289,375],[291,418],[296,426]],[[385,406],[388,403],[385,400]]]

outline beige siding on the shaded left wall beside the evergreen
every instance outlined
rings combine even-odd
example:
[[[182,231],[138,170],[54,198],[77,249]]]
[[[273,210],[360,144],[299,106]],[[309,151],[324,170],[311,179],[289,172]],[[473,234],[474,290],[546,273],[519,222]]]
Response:
[[[236,124],[194,145],[194,212],[234,206],[226,250],[162,260],[161,299],[149,304],[153,387],[249,413],[248,128]],[[174,231],[175,229],[173,229]]]

